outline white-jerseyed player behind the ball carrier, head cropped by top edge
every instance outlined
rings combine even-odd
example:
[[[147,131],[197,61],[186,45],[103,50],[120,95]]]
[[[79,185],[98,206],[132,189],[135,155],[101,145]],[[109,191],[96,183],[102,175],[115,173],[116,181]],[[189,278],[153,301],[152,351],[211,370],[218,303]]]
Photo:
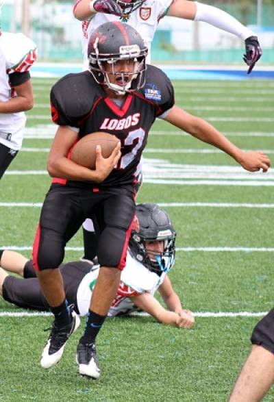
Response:
[[[108,21],[119,21],[121,16],[127,15],[127,23],[132,25],[145,40],[149,49],[147,63],[150,62],[150,48],[158,23],[165,15],[204,21],[230,32],[245,40],[245,62],[249,65],[248,73],[262,55],[258,38],[253,32],[226,12],[199,3],[187,0],[78,0],[74,6],[74,15],[82,23],[82,51],[84,68],[88,68],[88,39],[92,31]],[[122,17],[123,18],[123,17]],[[97,255],[97,236],[90,219],[83,224],[84,257],[83,260],[93,260]]]

